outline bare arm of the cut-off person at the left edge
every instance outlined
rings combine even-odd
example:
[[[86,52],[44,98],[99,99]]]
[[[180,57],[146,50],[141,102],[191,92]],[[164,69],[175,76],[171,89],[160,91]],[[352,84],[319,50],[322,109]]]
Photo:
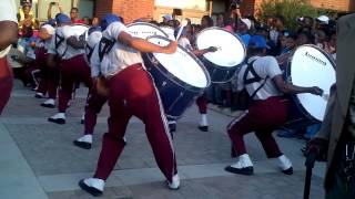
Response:
[[[18,41],[18,24],[13,21],[0,21],[0,51]]]

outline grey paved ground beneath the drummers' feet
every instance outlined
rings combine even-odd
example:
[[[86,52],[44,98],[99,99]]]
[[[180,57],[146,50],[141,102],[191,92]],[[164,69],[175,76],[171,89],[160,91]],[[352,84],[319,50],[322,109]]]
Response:
[[[106,130],[108,108],[100,114],[92,150],[73,147],[72,140],[83,130],[80,125],[85,90],[80,90],[68,113],[65,125],[47,122],[55,109],[42,108],[42,100],[18,82],[0,118],[0,198],[1,199],[84,199],[91,198],[78,187],[79,179],[95,169],[101,136]],[[280,172],[276,160],[267,160],[254,135],[247,136],[247,150],[255,175],[236,176],[223,169],[230,158],[230,140],[225,126],[231,113],[210,111],[210,132],[196,128],[196,107],[191,107],[178,124],[174,145],[182,187],[165,188],[156,169],[151,148],[140,121],[128,127],[125,147],[102,198],[172,199],[298,199],[303,197],[305,167],[300,151],[303,140],[278,139],[292,159],[295,174]],[[317,164],[312,181],[312,197],[324,198],[324,164]]]

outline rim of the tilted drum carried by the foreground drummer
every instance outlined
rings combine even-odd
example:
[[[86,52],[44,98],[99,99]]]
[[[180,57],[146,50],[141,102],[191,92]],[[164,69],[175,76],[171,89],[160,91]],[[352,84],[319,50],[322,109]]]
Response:
[[[165,41],[171,41],[169,38],[164,38],[162,35],[152,35],[152,36],[149,36],[146,38],[146,40],[149,41],[149,39],[152,39],[152,38],[159,38],[159,39],[162,39],[162,40],[165,40]],[[159,66],[158,66],[158,70],[165,76],[168,77],[166,74],[170,74],[170,76],[172,76],[173,78],[171,81],[173,81],[174,83],[176,83],[178,85],[189,90],[189,91],[192,91],[192,92],[195,92],[195,91],[201,91],[201,90],[205,90],[207,87],[210,87],[211,85],[211,76],[210,76],[210,73],[209,71],[205,69],[204,64],[192,53],[190,52],[189,50],[186,50],[185,48],[183,48],[182,45],[178,44],[178,46],[184,51],[186,54],[189,54],[196,63],[197,65],[201,67],[201,70],[203,71],[203,73],[205,74],[205,77],[206,77],[206,86],[205,87],[197,87],[197,86],[194,86],[194,85],[191,85],[180,78],[178,78],[174,74],[172,74],[171,72],[169,72],[160,62],[158,63]],[[152,62],[152,59],[151,59],[151,55],[153,56],[153,53],[144,53],[144,54],[150,54],[148,57],[149,60]],[[169,77],[170,77],[169,76]],[[189,85],[189,86],[186,86]]]

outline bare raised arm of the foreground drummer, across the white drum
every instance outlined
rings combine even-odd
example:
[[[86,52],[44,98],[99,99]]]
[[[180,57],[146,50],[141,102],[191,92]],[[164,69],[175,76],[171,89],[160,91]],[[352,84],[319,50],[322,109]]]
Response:
[[[126,44],[128,46],[135,49],[143,53],[165,53],[165,54],[172,54],[176,51],[178,42],[171,41],[169,45],[166,46],[160,46],[156,44],[153,44],[146,40],[140,39],[140,38],[133,38],[131,34],[122,31],[119,36],[118,41],[121,43]]]

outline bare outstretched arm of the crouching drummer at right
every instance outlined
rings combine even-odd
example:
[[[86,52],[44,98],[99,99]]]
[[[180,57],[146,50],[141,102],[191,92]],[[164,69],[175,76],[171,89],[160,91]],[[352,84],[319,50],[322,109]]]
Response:
[[[300,94],[300,93],[312,93],[314,95],[322,95],[323,91],[316,86],[314,87],[301,87],[293,84],[286,83],[281,75],[276,75],[273,78],[276,84],[278,91],[285,94]]]

